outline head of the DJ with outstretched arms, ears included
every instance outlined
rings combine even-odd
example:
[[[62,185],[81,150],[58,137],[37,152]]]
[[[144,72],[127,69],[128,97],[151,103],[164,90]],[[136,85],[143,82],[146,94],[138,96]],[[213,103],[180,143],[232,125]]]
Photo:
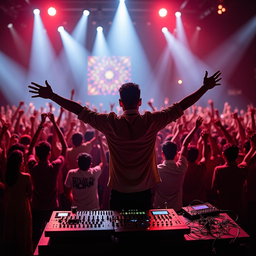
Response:
[[[124,110],[139,109],[141,106],[141,89],[136,83],[125,83],[119,88],[119,105]]]

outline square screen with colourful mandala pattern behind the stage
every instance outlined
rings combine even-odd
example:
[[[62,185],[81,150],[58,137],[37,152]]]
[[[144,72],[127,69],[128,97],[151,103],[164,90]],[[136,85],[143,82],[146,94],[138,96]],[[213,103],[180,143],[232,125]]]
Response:
[[[131,82],[131,57],[89,56],[88,95],[116,95],[124,83]]]

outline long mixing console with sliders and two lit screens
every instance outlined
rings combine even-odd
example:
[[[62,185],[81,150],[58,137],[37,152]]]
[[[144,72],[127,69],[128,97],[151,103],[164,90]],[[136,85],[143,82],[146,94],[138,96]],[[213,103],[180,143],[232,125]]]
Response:
[[[46,237],[188,234],[189,227],[173,209],[146,211],[54,211],[46,226]],[[137,233],[139,232],[139,233]]]

